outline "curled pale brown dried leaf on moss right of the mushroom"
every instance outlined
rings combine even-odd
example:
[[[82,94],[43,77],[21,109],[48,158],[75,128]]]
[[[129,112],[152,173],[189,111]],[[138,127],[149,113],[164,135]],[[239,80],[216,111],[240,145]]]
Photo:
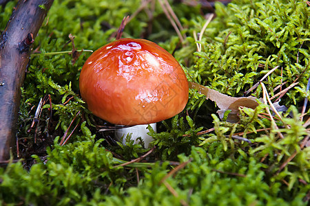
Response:
[[[256,108],[256,106],[258,106],[258,102],[254,97],[233,98],[229,95],[219,93],[214,89],[209,89],[195,82],[189,82],[189,88],[196,89],[199,93],[204,94],[207,99],[216,102],[216,105],[220,108],[220,110],[217,111],[220,119],[223,119],[224,113],[227,110],[231,110],[227,117],[227,122],[236,123],[239,121],[238,114],[240,106],[245,106],[248,108]]]

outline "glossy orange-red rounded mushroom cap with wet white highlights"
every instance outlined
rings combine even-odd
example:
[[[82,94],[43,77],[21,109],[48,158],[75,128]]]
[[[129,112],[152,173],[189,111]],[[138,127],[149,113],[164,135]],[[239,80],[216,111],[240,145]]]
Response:
[[[112,124],[160,122],[183,111],[185,73],[165,49],[143,39],[121,38],[96,50],[80,76],[83,100]]]

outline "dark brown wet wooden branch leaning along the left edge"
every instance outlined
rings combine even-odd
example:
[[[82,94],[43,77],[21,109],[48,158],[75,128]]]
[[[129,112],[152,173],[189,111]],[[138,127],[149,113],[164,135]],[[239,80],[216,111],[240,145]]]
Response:
[[[0,161],[10,158],[30,48],[54,0],[19,0],[0,36]]]

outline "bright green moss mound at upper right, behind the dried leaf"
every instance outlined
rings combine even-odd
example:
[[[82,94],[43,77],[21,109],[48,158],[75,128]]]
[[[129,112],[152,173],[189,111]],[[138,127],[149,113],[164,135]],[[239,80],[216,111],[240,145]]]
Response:
[[[285,81],[289,85],[298,77],[300,87],[307,85],[310,67],[307,3],[236,1],[227,8],[218,3],[216,8],[217,18],[205,32],[203,51],[196,52],[199,58],[191,71],[199,82],[222,93],[242,95],[278,66],[266,83],[270,91]],[[285,104],[302,101],[304,93],[291,89]],[[261,93],[255,95],[260,97]]]

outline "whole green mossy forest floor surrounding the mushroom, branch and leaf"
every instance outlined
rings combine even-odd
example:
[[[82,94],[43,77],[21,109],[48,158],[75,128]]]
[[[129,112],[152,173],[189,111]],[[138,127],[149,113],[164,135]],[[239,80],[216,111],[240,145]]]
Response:
[[[21,88],[18,149],[1,163],[1,204],[309,205],[309,1],[217,2],[211,10],[198,1],[143,2],[54,1]],[[0,5],[1,33],[15,4]],[[48,54],[72,51],[69,34],[77,50],[96,51],[128,14],[124,38],[158,43],[190,82],[258,106],[238,108],[231,123],[232,110],[220,119],[216,103],[189,89],[183,111],[148,126],[149,148],[130,135],[115,141],[115,126],[92,115],[79,93],[92,52],[74,64],[70,54]]]

